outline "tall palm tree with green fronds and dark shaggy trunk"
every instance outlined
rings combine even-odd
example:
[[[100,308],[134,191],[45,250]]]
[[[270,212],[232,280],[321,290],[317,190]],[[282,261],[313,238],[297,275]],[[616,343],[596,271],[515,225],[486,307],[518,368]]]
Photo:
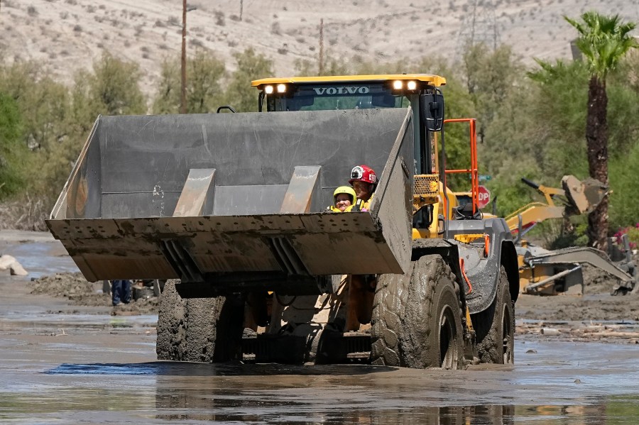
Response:
[[[608,185],[608,94],[606,77],[631,48],[639,47],[629,35],[635,23],[623,23],[618,15],[603,16],[595,11],[581,15],[583,22],[564,19],[579,32],[577,48],[584,55],[590,72],[588,111],[586,115],[586,148],[588,169],[593,177]],[[608,197],[588,216],[589,244],[601,250],[608,248]]]

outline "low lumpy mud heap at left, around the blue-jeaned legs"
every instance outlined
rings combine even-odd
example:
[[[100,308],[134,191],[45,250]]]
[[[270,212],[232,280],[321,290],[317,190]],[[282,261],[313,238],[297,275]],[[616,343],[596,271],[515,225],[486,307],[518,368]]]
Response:
[[[111,305],[111,296],[102,292],[102,282],[87,282],[82,273],[55,273],[33,280],[31,294],[46,294],[53,297],[65,297],[74,305],[88,307],[107,307]],[[138,314],[156,314],[160,302],[157,297],[131,299],[129,304],[113,307],[112,316],[134,316]]]

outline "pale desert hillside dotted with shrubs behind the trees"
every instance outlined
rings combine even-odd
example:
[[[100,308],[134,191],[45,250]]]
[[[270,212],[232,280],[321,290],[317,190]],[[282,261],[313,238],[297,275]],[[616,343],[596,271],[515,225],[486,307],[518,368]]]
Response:
[[[349,60],[455,57],[461,40],[513,45],[533,57],[570,57],[574,28],[562,18],[587,10],[639,21],[639,0],[190,0],[187,50],[206,48],[234,67],[233,53],[251,46],[271,57],[277,74],[324,49]],[[160,63],[179,57],[180,0],[0,0],[0,58],[35,59],[63,82],[88,68],[103,50],[135,60],[151,93]],[[424,70],[427,72],[427,70]]]

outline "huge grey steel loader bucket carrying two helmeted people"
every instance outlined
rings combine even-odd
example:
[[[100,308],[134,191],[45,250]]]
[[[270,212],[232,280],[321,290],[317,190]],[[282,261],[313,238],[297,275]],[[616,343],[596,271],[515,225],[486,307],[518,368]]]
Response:
[[[92,281],[403,273],[410,126],[410,109],[100,116],[47,223]],[[359,164],[381,176],[371,211],[324,211]]]

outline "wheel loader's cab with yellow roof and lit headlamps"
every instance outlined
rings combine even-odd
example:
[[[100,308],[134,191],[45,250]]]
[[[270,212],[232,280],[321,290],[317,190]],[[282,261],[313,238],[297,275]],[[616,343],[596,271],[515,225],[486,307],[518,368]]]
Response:
[[[331,77],[267,78],[253,81],[258,110],[266,112],[410,108],[413,110],[413,227],[438,234],[439,195],[437,138],[444,121],[443,77],[430,74],[383,74]],[[407,129],[408,130],[408,129]],[[427,188],[421,191],[417,188]],[[454,206],[452,202],[449,207]],[[420,233],[422,236],[426,233]]]

